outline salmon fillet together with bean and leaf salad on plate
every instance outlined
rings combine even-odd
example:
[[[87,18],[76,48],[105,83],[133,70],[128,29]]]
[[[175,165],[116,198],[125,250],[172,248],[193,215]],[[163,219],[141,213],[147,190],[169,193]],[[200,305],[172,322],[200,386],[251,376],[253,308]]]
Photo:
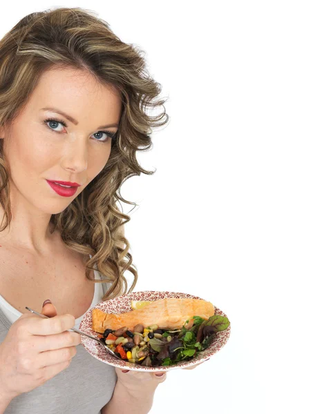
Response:
[[[157,302],[160,302],[160,306],[149,309]],[[155,309],[158,309],[158,313],[155,313]],[[200,312],[191,313],[193,309]],[[165,317],[159,313],[163,310]],[[187,320],[182,319],[189,312],[191,315]],[[134,322],[130,314],[135,315]],[[107,321],[108,316],[121,315],[127,315],[126,319]],[[152,322],[156,320],[156,324],[149,323],[151,315],[154,317]],[[180,319],[183,322],[180,323]],[[216,332],[224,331],[230,324],[227,317],[214,315],[214,306],[203,299],[159,299],[145,304],[140,310],[117,315],[93,309],[92,321],[93,330],[102,334],[100,340],[117,356],[142,366],[167,366],[189,361],[208,348]],[[108,323],[104,324],[106,321]]]

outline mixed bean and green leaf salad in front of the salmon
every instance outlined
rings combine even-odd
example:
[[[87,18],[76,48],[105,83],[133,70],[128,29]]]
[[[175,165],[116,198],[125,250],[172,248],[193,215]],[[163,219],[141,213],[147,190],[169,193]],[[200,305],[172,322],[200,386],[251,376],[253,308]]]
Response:
[[[209,319],[193,316],[181,329],[159,329],[157,324],[137,324],[133,331],[123,326],[115,331],[106,329],[100,340],[124,360],[142,366],[167,366],[189,361],[209,347],[217,332],[225,331],[227,317],[213,315]]]

